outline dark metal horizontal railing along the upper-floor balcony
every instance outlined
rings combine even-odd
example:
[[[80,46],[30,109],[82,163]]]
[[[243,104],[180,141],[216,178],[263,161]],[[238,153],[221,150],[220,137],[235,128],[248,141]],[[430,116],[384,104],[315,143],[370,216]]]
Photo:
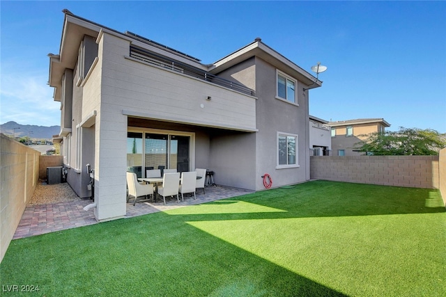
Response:
[[[187,74],[190,77],[202,79],[203,81],[209,81],[211,83],[236,90],[246,95],[254,96],[254,90],[247,88],[240,83],[235,83],[233,81],[229,81],[228,79],[223,79],[222,77],[217,77],[214,74],[210,74],[209,72],[206,72],[204,70],[192,67],[190,65],[187,65],[186,63],[181,63],[174,59],[154,54],[151,51],[146,51],[139,47],[130,46],[130,57],[140,61],[144,61],[146,63],[151,63],[153,65],[174,70],[176,72]]]

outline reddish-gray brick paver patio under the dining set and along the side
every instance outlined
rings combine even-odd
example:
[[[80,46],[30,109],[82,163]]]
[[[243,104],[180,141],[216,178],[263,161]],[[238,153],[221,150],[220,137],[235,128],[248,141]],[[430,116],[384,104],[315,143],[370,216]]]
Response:
[[[56,186],[57,185],[39,184],[38,188],[36,188],[36,192],[38,192],[38,195],[48,195],[48,193],[54,191],[54,187]],[[93,214],[93,209],[88,211],[84,210],[86,205],[93,203],[92,200],[81,199],[76,195],[73,195],[74,192],[69,186],[63,188],[63,191],[66,193],[57,193],[54,195],[57,195],[58,197],[75,196],[75,198],[65,202],[29,204],[22,214],[22,218],[17,226],[17,230],[15,230],[13,239],[21,239],[24,237],[98,223]],[[157,202],[137,202],[137,204],[133,206],[133,199],[130,199],[130,202],[127,203],[127,214],[124,218],[153,214],[157,211],[166,211],[168,209],[201,204],[223,198],[231,198],[252,192],[253,191],[227,186],[206,186],[206,194],[203,194],[203,191],[199,190],[196,193],[197,199],[194,200],[194,198],[187,196],[184,198],[184,201],[181,201],[180,203],[176,202],[176,199],[169,199],[166,200],[166,205],[164,205],[162,198],[158,198]]]

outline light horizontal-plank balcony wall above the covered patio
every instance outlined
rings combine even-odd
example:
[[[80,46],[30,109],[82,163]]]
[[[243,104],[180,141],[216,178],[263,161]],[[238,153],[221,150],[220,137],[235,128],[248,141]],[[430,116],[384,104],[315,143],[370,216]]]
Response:
[[[115,60],[102,84],[114,83],[121,110],[130,115],[229,129],[256,129],[256,99],[148,63]],[[116,71],[118,70],[118,71]],[[210,99],[208,100],[208,96]],[[125,102],[125,104],[124,104]]]

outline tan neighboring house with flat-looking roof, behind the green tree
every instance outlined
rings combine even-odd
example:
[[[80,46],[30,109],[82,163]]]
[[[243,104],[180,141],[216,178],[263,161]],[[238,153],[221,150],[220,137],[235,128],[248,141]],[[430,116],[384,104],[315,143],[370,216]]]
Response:
[[[328,122],[331,127],[332,150],[334,156],[360,156],[364,152],[354,150],[355,145],[364,141],[367,135],[374,132],[384,133],[390,124],[383,118],[370,118],[359,120],[342,120]]]

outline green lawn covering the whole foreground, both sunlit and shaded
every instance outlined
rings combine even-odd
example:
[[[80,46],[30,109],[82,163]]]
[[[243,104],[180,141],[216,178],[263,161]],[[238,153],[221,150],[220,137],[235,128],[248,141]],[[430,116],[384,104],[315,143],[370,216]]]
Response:
[[[316,181],[18,239],[1,296],[446,296],[442,203]]]

